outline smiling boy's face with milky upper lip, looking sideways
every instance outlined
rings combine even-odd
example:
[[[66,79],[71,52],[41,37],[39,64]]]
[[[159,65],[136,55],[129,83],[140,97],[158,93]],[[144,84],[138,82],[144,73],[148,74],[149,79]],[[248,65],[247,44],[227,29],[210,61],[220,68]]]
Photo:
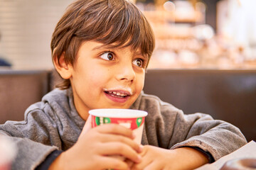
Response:
[[[99,42],[82,43],[69,65],[75,107],[84,119],[95,108],[129,108],[144,86],[149,58],[130,47],[108,48]]]

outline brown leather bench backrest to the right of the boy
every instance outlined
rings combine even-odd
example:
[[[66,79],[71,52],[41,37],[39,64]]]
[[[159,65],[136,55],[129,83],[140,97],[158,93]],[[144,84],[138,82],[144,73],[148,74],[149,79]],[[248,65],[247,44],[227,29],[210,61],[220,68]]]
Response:
[[[207,113],[225,120],[248,141],[256,140],[256,70],[149,69],[144,92],[185,114]]]

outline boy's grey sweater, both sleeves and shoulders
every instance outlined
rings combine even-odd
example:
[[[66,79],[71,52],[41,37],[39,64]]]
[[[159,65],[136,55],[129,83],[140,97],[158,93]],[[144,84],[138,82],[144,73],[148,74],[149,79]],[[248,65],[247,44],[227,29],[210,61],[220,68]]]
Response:
[[[240,130],[229,123],[203,113],[184,115],[171,104],[143,92],[131,108],[149,113],[142,145],[165,149],[199,147],[216,160],[247,143]],[[18,146],[12,169],[35,169],[54,150],[69,149],[78,140],[83,125],[85,120],[75,110],[72,90],[50,91],[26,110],[25,120],[0,125],[0,134],[11,136]]]

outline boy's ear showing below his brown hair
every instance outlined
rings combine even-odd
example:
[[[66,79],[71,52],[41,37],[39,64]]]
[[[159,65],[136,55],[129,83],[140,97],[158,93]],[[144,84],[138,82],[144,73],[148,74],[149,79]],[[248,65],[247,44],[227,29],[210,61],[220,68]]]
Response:
[[[71,64],[67,64],[67,62],[65,62],[64,54],[65,53],[63,52],[63,54],[60,56],[59,61],[58,57],[54,57],[53,64],[55,69],[63,79],[70,79],[70,77],[72,76],[71,71],[73,67],[71,66]]]

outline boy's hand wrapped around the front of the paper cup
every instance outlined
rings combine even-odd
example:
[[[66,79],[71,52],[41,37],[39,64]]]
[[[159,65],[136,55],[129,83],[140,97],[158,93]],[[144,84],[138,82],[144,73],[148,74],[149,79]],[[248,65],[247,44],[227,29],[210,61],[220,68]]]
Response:
[[[90,122],[90,119],[87,120]],[[86,124],[78,142],[60,154],[50,169],[128,169],[128,164],[111,157],[121,155],[140,162],[142,148],[133,141],[132,130],[117,124],[90,128]]]

